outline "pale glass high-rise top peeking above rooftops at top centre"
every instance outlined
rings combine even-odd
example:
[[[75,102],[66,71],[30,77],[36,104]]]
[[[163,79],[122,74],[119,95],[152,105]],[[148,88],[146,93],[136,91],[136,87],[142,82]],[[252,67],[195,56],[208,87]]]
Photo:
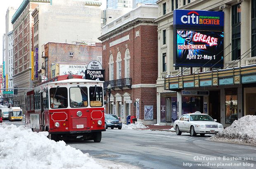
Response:
[[[107,9],[131,10],[133,0],[107,0]]]

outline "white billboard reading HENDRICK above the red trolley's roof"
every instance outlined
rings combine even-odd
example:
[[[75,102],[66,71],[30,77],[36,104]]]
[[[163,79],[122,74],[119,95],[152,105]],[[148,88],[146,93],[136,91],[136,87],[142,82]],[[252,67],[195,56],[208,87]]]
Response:
[[[59,75],[76,74],[85,77],[86,64],[59,64]]]

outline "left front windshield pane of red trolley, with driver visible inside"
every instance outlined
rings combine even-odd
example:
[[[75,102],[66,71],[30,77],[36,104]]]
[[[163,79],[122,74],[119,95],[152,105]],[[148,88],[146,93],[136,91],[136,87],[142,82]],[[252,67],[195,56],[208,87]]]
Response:
[[[68,89],[65,87],[50,88],[50,107],[52,109],[68,107]]]

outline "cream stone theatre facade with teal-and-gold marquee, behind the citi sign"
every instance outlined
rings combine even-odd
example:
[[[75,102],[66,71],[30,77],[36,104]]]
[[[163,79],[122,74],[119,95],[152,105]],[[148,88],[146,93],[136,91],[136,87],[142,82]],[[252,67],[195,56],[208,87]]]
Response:
[[[171,124],[184,113],[201,111],[227,127],[237,118],[255,115],[256,2],[254,0],[207,2],[159,0],[157,4],[159,7],[158,18],[155,20],[158,23],[157,122]],[[224,19],[221,21],[224,23],[224,54],[219,60],[224,64],[221,67],[173,65],[176,59],[173,59],[175,53],[173,51],[177,51],[177,44],[173,43],[176,33],[180,33],[174,32],[175,9],[224,12]]]

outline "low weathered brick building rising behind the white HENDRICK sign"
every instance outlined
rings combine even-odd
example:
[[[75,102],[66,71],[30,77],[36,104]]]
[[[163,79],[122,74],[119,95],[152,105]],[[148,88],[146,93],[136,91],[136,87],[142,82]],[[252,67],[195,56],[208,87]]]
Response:
[[[53,68],[52,65],[72,65],[75,63],[87,65],[92,60],[98,60],[102,63],[102,44],[67,44],[48,42],[44,45],[42,58],[44,62],[40,67],[44,72],[42,73],[39,71],[39,79],[41,79],[41,76],[47,76],[47,79],[51,79],[54,76],[63,75],[57,74],[57,72],[55,74],[55,70],[57,70],[57,68]],[[54,70],[54,73],[52,73],[52,70]]]

